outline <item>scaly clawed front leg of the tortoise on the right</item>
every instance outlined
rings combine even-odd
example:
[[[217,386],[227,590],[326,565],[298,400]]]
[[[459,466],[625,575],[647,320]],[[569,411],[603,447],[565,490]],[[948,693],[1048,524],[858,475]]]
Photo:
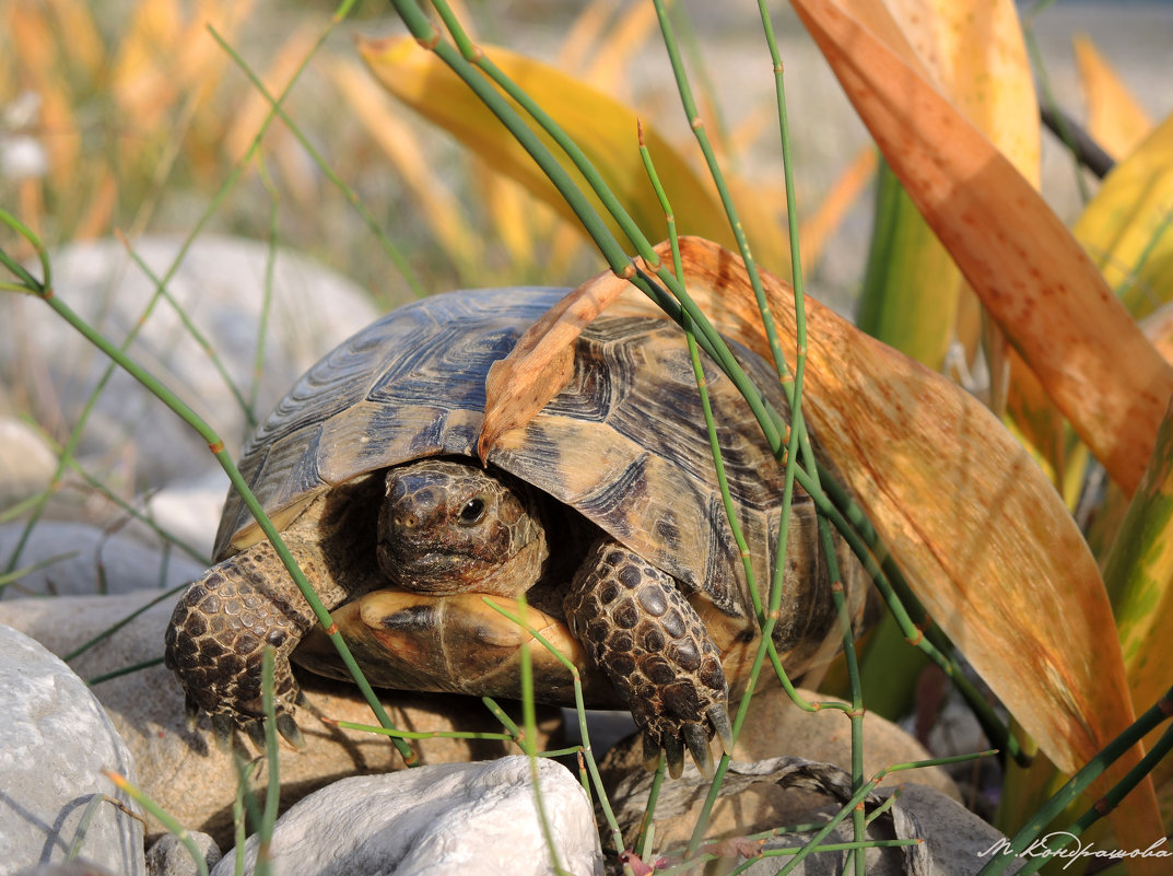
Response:
[[[610,677],[670,774],[687,748],[712,774],[708,739],[728,739],[728,685],[720,654],[671,576],[612,541],[586,555],[563,609],[575,637]]]

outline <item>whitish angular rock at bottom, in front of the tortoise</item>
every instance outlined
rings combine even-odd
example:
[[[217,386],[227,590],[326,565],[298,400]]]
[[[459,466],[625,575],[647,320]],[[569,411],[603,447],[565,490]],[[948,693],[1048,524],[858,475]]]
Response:
[[[538,760],[542,804],[560,864],[577,876],[602,874],[590,803],[570,773]],[[251,874],[257,838],[245,847]],[[282,876],[460,872],[537,876],[551,871],[527,758],[421,767],[345,779],[278,821],[272,864]],[[212,876],[230,876],[230,853]]]

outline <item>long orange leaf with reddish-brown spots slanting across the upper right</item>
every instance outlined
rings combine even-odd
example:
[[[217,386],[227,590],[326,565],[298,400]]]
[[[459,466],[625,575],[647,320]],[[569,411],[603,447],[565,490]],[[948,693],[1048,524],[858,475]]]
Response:
[[[794,7],[990,315],[1131,493],[1173,368],[1030,183],[915,68],[830,0]]]

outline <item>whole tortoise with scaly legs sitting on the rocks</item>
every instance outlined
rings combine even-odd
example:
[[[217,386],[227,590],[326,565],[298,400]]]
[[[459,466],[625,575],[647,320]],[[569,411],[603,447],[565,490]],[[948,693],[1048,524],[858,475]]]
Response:
[[[564,292],[461,291],[392,311],[300,378],[239,468],[327,609],[385,589],[419,597],[381,622],[412,641],[401,664],[439,647],[438,625],[460,631],[443,645],[455,661],[435,670],[420,657],[418,673],[396,670],[389,684],[488,692],[489,681],[423,675],[463,675],[462,661],[475,663],[489,622],[473,616],[481,603],[470,595],[526,592],[605,675],[588,705],[630,708],[645,754],[663,751],[678,774],[685,749],[706,766],[713,734],[727,742],[730,677],[734,688],[745,680],[759,634],[683,332],[621,299],[576,340],[569,385],[477,459],[489,367]],[[730,345],[785,412],[777,373]],[[748,565],[765,590],[782,470],[732,382],[707,361],[704,373]],[[773,633],[791,672],[839,637],[813,503],[798,488],[794,496]],[[836,554],[857,597],[862,570],[845,544]],[[235,490],[215,559],[165,636],[189,715],[210,713],[221,738],[255,728],[260,654],[272,645],[278,729],[300,745],[289,658],[317,624]],[[445,600],[447,613],[436,607]],[[570,690],[555,668],[538,670],[535,686],[548,700]]]

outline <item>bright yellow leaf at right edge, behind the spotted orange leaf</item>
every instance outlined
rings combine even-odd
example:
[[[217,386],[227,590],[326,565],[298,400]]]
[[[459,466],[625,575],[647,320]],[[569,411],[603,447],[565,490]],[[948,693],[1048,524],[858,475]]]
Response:
[[[1108,174],[1074,233],[1134,317],[1173,299],[1173,115]]]

